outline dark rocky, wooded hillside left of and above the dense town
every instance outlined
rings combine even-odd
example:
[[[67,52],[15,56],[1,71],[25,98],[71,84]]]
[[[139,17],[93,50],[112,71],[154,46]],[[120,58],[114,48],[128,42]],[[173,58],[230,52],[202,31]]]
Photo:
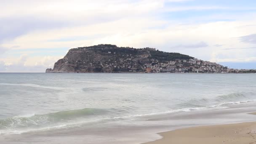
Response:
[[[145,72],[150,59],[169,61],[176,58],[191,59],[179,53],[164,53],[155,48],[123,48],[116,45],[94,45],[70,49],[53,69],[45,72]]]

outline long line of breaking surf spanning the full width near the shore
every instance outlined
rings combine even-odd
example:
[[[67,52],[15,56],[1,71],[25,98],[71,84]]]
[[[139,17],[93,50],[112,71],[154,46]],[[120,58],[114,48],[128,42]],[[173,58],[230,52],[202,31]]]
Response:
[[[131,108],[125,109],[76,109],[43,115],[15,116],[0,120],[0,135],[5,133],[23,133],[28,131],[49,130],[54,128],[75,127],[79,125],[92,125],[93,123],[107,123],[120,120],[146,120],[148,116],[165,115],[195,110],[227,108],[232,104],[242,104],[256,101],[255,93],[232,93],[216,96],[211,99],[192,99],[181,103],[177,109],[163,112],[149,112],[146,114],[134,114]],[[137,109],[137,108],[135,108]],[[120,115],[121,114],[121,115]],[[129,115],[130,114],[130,115]]]

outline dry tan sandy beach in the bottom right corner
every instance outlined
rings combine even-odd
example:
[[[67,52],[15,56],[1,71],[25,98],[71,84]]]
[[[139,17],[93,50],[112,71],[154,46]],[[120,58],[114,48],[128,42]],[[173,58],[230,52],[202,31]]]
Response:
[[[158,134],[163,138],[144,144],[256,144],[256,122],[199,126]]]

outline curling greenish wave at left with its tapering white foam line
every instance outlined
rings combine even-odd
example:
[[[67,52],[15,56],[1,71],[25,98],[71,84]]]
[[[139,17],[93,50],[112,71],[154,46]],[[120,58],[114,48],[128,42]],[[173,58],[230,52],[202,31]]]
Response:
[[[88,116],[92,115],[102,115],[106,114],[108,110],[104,109],[77,109],[77,110],[69,110],[69,111],[60,111],[54,113],[48,113],[44,115],[24,115],[24,116],[15,116],[12,118],[7,118],[4,120],[0,120],[0,135],[10,134],[10,133],[27,133],[32,131],[45,131],[45,130],[53,130],[59,128],[75,128],[81,125],[93,125],[98,123],[106,123],[111,121],[119,121],[119,120],[133,120],[138,117],[147,117],[151,115],[161,115],[167,113],[174,112],[188,112],[192,110],[198,110],[204,108],[186,108],[186,109],[176,109],[170,110],[166,112],[156,112],[149,114],[141,114],[141,115],[126,115],[126,116],[108,116],[108,117],[98,117],[97,119],[85,119]],[[114,109],[116,110],[116,109]],[[84,118],[83,120],[77,120],[77,118]],[[65,120],[66,123],[62,123]],[[72,121],[73,120],[73,121]]]

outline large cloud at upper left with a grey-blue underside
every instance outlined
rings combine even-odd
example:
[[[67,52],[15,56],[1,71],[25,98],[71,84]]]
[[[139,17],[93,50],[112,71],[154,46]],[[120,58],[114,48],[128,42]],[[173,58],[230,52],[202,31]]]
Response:
[[[149,16],[150,13],[158,13],[157,9],[163,4],[164,0],[3,1],[0,5],[1,11],[4,11],[0,13],[0,44],[35,31],[85,27]]]

